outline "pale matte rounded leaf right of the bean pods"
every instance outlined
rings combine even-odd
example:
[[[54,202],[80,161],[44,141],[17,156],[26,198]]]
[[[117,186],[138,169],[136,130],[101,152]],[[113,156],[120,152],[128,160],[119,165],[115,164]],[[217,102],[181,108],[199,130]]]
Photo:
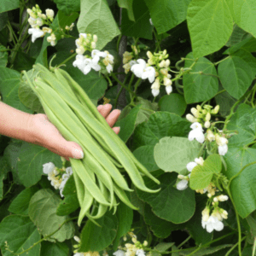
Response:
[[[180,173],[187,164],[194,161],[201,149],[201,143],[190,142],[185,137],[163,137],[154,146],[154,160],[165,172]]]

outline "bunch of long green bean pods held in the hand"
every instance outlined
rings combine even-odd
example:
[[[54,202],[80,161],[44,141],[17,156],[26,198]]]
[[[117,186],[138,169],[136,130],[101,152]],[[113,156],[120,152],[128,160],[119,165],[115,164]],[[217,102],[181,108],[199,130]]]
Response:
[[[79,225],[85,216],[97,224],[96,219],[101,218],[108,207],[115,212],[116,196],[128,207],[137,209],[125,193],[133,190],[120,169],[127,172],[137,189],[148,193],[160,190],[146,187],[143,176],[160,182],[134,157],[66,71],[61,68],[49,71],[40,64],[34,65],[33,70],[37,73],[33,80],[23,72],[26,83],[38,96],[49,121],[66,140],[79,143],[84,151],[82,160],[70,159],[81,207]]]

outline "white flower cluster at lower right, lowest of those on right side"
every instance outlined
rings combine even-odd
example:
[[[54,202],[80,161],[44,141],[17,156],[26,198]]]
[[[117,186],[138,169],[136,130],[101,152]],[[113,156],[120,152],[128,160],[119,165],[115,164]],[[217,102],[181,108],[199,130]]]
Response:
[[[206,207],[202,212],[201,225],[208,233],[213,230],[221,231],[224,229],[223,219],[228,218],[228,212],[218,207],[218,201],[227,201],[229,197],[227,195],[218,195],[213,198],[212,205],[214,207],[210,216],[210,207]]]

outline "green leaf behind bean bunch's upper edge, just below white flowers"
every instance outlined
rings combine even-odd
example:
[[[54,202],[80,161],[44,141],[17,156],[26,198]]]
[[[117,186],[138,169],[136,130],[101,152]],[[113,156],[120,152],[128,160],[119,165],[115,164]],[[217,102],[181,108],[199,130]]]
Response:
[[[73,67],[73,65],[67,65],[67,68],[63,68],[69,73],[72,78],[84,89],[90,99],[98,100],[104,96],[105,90],[108,87],[107,81],[103,76],[91,70],[90,73],[84,75],[79,68]]]

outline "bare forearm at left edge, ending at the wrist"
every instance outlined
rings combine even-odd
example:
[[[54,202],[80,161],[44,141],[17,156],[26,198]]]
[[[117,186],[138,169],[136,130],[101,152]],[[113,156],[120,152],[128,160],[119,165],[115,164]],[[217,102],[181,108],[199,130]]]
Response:
[[[32,117],[31,113],[22,112],[0,102],[0,134],[33,143]]]

